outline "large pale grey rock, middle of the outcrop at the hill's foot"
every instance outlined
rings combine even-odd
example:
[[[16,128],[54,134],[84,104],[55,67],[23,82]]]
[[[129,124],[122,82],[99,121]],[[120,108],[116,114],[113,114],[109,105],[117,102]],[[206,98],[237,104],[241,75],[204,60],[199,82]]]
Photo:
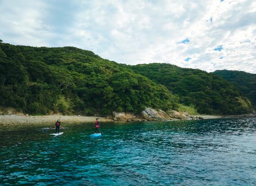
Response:
[[[168,120],[171,119],[171,117],[163,112],[162,110],[155,110],[151,108],[145,108],[144,111],[141,112],[144,119],[147,120]]]

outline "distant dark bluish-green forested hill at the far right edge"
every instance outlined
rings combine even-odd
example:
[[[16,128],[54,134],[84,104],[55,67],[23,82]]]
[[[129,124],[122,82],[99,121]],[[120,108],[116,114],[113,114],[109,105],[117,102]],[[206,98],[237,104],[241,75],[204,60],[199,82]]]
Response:
[[[252,105],[256,108],[256,74],[237,70],[216,70],[214,74],[232,82],[244,96],[250,99]]]

